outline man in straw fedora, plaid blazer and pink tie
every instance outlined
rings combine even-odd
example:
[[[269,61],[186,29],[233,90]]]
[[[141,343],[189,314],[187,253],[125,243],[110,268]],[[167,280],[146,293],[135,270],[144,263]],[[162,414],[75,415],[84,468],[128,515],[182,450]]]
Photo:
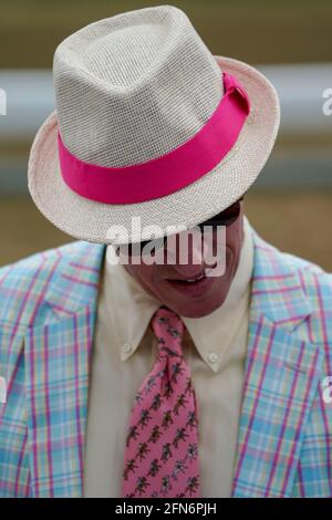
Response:
[[[82,240],[0,270],[0,495],[330,497],[332,278],[243,215],[273,86],[170,6],[53,71],[29,187]]]

